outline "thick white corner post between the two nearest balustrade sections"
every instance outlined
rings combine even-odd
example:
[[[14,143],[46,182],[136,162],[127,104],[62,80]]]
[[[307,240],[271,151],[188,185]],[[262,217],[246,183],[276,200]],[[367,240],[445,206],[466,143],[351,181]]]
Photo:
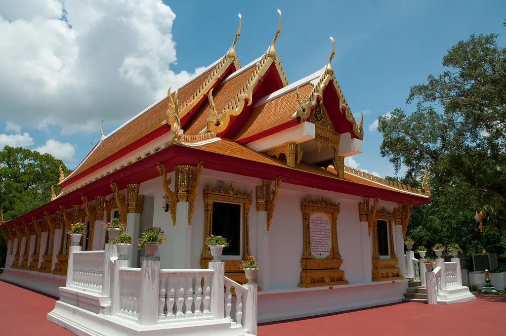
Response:
[[[159,285],[160,261],[143,260],[141,264],[140,325],[152,325],[158,321]]]

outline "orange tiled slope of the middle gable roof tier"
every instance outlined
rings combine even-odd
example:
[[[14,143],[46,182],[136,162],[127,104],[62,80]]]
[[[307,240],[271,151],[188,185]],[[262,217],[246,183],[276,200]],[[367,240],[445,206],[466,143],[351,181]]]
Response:
[[[246,80],[249,78],[251,73],[255,70],[256,64],[253,64],[248,69],[241,69],[241,73],[226,79],[225,82],[220,83],[213,90],[213,101],[215,103],[216,110],[221,112],[225,106],[227,106],[232,99],[237,95]],[[232,74],[233,75],[233,74]],[[209,116],[209,101],[205,100],[199,108],[195,111],[191,119],[186,123],[184,127],[185,134],[195,135],[201,132],[207,126],[207,117]]]

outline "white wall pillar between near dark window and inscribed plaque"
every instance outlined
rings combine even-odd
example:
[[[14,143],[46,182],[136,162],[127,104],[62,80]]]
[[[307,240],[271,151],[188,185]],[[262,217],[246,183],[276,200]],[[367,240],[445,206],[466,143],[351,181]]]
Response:
[[[269,283],[269,233],[267,231],[267,212],[257,212],[257,259],[262,268],[258,271],[257,282],[264,290],[270,288]]]

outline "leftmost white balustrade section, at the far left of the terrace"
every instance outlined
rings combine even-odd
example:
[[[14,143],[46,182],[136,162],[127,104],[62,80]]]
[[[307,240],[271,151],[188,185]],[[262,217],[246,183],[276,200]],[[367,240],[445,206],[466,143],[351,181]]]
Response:
[[[104,251],[75,251],[70,287],[101,295],[104,258]]]

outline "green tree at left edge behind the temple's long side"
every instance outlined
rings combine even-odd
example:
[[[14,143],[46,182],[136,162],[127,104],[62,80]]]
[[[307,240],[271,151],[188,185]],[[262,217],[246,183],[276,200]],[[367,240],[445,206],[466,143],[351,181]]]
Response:
[[[50,154],[40,154],[26,148],[5,146],[0,151],[0,208],[4,220],[20,216],[51,199],[51,186],[55,193],[60,176],[59,166],[65,175],[68,170],[62,160]],[[7,245],[0,234],[0,265],[4,265]]]

